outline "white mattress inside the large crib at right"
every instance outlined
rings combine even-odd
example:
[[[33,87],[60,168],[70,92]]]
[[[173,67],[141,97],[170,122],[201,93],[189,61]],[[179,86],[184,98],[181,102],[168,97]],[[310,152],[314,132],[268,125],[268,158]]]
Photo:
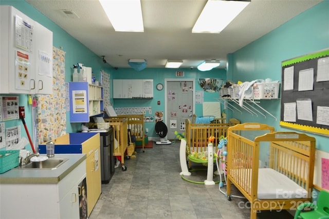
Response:
[[[251,175],[251,169],[238,169],[237,171],[240,172],[236,175],[245,175],[244,171],[247,171]],[[232,171],[232,176],[234,178],[234,171]],[[250,181],[245,182],[246,184],[250,185]],[[246,185],[245,185],[246,186]],[[265,199],[293,199],[293,198],[306,198],[308,192],[299,186],[294,181],[290,180],[287,176],[279,173],[276,170],[271,168],[260,168],[258,171],[258,190],[257,190],[258,199],[265,200]]]

